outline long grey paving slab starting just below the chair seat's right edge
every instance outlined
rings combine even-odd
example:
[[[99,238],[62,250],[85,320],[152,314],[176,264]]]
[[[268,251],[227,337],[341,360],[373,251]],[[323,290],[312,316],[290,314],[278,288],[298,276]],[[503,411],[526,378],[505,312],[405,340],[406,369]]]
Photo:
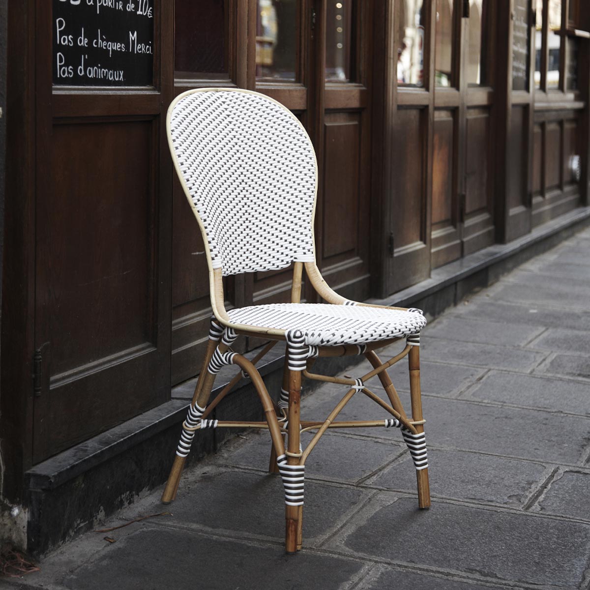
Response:
[[[428,336],[422,336],[420,340],[421,358],[457,365],[466,364],[491,369],[530,371],[546,356],[546,353],[543,352],[533,352],[512,346],[458,342]]]

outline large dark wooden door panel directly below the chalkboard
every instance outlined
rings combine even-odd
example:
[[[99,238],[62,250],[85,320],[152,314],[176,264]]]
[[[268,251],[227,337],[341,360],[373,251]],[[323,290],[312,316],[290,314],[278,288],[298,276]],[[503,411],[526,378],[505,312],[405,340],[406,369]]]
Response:
[[[37,225],[51,376],[154,342],[155,149],[150,121],[54,127],[53,186]]]

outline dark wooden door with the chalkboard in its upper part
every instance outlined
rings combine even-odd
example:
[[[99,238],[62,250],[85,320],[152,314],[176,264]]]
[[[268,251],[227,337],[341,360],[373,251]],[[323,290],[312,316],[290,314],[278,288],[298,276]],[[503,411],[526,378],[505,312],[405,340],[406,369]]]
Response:
[[[84,4],[37,1],[34,463],[169,398],[172,11]]]

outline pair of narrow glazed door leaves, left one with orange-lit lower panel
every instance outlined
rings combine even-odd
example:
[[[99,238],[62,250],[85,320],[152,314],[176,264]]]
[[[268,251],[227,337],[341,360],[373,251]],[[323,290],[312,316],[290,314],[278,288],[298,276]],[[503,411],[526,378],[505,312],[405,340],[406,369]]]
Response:
[[[494,241],[493,0],[436,0],[432,267]]]

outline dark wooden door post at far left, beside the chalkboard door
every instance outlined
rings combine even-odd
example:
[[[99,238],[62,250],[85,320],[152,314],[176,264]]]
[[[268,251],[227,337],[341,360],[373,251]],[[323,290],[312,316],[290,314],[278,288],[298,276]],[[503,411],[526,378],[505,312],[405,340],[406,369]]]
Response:
[[[19,51],[10,51],[19,47]],[[35,240],[35,0],[9,0],[5,258],[2,298],[0,431],[6,466],[2,494],[24,500],[24,471],[32,457]],[[10,289],[7,286],[10,285]]]

